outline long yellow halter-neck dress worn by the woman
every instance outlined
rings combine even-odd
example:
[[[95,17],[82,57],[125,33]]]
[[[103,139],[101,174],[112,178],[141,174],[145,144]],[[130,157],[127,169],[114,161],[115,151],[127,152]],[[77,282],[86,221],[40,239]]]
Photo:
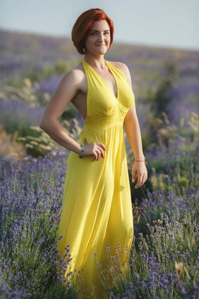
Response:
[[[62,213],[57,234],[58,249],[63,257],[66,246],[71,257],[63,278],[77,270],[82,271],[86,297],[108,298],[100,284],[97,261],[102,270],[110,264],[106,246],[110,244],[110,255],[115,256],[120,243],[121,262],[126,265],[129,255],[123,248],[130,248],[133,240],[133,215],[130,184],[127,170],[126,150],[123,136],[123,121],[134,102],[134,94],[124,74],[104,59],[117,84],[117,98],[112,89],[83,58],[87,76],[87,118],[79,135],[78,143],[101,142],[105,145],[105,157],[79,158],[79,154],[69,154],[64,186]],[[127,246],[127,247],[126,247]],[[65,261],[69,256],[64,257]],[[122,266],[123,267],[123,266]],[[107,271],[107,270],[105,270]],[[103,273],[103,272],[102,272]],[[105,273],[105,272],[104,272]],[[92,290],[93,289],[93,290]],[[85,293],[80,293],[85,294]]]

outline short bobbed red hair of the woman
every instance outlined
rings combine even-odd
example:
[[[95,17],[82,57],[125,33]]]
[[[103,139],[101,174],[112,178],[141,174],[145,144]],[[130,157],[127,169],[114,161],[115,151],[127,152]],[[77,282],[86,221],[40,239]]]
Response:
[[[91,8],[84,11],[78,17],[71,32],[73,44],[80,54],[85,54],[83,41],[89,35],[93,23],[100,20],[106,20],[108,23],[110,28],[110,45],[112,44],[114,32],[113,21],[107,16],[104,10],[100,8]]]

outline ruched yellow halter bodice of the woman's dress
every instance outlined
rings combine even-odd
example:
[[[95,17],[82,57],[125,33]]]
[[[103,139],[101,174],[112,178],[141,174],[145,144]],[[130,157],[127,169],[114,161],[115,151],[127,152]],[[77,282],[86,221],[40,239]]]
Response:
[[[134,94],[123,73],[104,59],[117,84],[117,98],[109,85],[86,62],[82,60],[87,76],[87,118],[88,133],[102,130],[116,124],[123,125],[125,115],[133,104]],[[80,133],[79,138],[83,135]]]

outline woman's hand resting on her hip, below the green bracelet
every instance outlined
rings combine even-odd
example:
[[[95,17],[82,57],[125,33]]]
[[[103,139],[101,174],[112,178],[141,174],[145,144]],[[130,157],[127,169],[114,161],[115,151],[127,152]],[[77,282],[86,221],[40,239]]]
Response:
[[[93,142],[91,144],[88,144],[86,138],[84,137],[84,156],[94,156],[94,161],[98,161],[100,159],[100,156],[102,156],[102,158],[104,158],[105,154],[104,154],[104,150],[106,150],[106,147],[104,146],[104,144],[100,143],[100,142]]]

